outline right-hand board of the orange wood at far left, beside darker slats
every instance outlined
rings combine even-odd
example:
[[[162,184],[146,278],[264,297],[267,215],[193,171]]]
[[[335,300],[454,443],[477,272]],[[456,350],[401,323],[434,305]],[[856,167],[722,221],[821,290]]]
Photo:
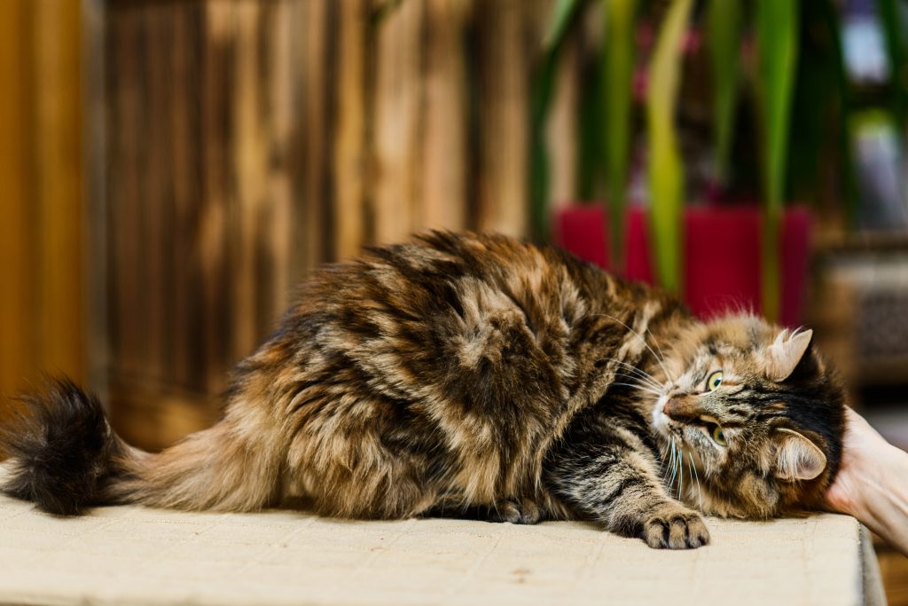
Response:
[[[84,379],[82,36],[78,3],[33,5],[37,346],[49,372]]]

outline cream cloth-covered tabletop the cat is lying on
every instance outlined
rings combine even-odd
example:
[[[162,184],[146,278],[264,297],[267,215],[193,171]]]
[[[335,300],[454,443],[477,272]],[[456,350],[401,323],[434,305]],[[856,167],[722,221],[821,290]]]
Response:
[[[864,602],[865,538],[853,518],[707,524],[706,548],[655,551],[577,522],[349,522],[142,507],[64,519],[0,497],[0,603]]]

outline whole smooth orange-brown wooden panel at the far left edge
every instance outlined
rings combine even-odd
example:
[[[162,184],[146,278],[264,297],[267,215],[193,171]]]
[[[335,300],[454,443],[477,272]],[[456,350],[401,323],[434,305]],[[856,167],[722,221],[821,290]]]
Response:
[[[0,3],[0,418],[43,372],[85,378],[79,11]]]

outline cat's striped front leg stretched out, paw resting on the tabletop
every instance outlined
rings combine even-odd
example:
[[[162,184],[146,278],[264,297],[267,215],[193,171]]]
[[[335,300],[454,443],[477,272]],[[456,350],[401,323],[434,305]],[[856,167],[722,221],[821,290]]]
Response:
[[[550,456],[547,481],[580,516],[655,549],[709,542],[703,517],[667,494],[646,446],[629,443],[636,436],[572,437]]]

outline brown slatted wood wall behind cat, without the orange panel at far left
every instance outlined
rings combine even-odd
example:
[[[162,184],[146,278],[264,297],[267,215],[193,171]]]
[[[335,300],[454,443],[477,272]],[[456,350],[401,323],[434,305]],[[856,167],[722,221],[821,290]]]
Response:
[[[211,422],[227,371],[313,267],[427,227],[527,233],[551,0],[94,2],[108,234],[94,338],[127,439]],[[574,101],[558,99],[564,149]]]

